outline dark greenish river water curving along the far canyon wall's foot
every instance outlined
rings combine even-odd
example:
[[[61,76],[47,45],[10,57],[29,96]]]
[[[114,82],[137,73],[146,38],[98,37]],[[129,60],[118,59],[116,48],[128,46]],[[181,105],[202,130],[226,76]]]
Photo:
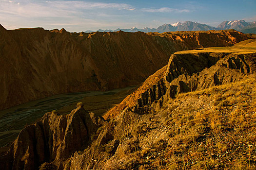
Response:
[[[59,94],[2,110],[0,111],[0,147],[4,147],[9,142],[13,141],[19,135],[21,129],[23,129],[27,124],[31,124],[40,119],[46,112],[58,110],[74,102],[80,102],[86,97],[89,97],[90,100],[94,97],[112,100],[111,96],[114,96],[122,91],[130,90],[131,88],[133,87],[114,89],[105,92],[87,91]],[[106,98],[106,96],[109,98]],[[121,101],[125,96],[126,95],[121,95],[120,97],[118,96],[118,102]],[[87,103],[84,104],[86,105]],[[107,110],[110,107],[110,104],[107,104],[107,106],[105,104],[104,108]]]

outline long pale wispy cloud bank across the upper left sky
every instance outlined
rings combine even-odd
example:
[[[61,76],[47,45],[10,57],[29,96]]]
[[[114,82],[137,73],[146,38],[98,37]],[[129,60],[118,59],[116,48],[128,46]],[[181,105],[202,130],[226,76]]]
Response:
[[[125,3],[94,3],[84,1],[6,1],[0,3],[0,15],[12,14],[21,17],[70,17],[96,9],[116,9],[133,11],[135,8]]]

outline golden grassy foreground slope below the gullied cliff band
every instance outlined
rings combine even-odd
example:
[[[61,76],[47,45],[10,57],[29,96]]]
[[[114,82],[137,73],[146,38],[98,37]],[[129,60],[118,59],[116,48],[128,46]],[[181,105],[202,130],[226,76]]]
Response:
[[[160,110],[127,107],[66,170],[254,170],[255,84],[254,75],[177,95]]]

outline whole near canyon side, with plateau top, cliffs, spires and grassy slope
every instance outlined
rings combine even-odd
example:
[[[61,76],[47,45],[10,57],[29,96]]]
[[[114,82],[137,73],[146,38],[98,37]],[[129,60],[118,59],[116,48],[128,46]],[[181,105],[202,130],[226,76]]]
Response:
[[[41,170],[153,170],[184,166],[196,170],[255,166],[255,162],[247,165],[245,160],[256,157],[251,152],[256,149],[256,48],[241,51],[243,49],[238,45],[226,49],[197,49],[173,54],[167,66],[104,115],[105,119],[112,118],[109,122],[89,118],[81,105],[66,116],[47,113],[38,123],[45,122],[42,129],[58,127],[56,133],[62,135],[53,141],[60,139],[64,144],[53,143],[50,146],[58,149],[50,154],[53,155],[51,159],[41,158],[35,162],[33,155],[37,155],[38,150],[30,150],[31,145],[22,145],[28,140],[27,131],[31,128],[34,132],[37,123],[28,126],[20,132],[8,153],[0,157],[1,162],[5,162],[1,168],[30,169],[43,162]],[[76,116],[75,113],[80,114]],[[88,119],[84,120],[82,116]],[[71,118],[77,120],[74,126],[79,125],[72,125],[73,130],[65,123]],[[63,120],[61,124],[65,125],[65,130],[60,131],[58,123],[51,123],[60,120]],[[92,123],[84,126],[86,122]],[[104,125],[96,131],[99,124]],[[90,131],[91,127],[94,128]],[[92,141],[88,140],[89,135],[84,129],[94,133]],[[70,132],[74,136],[69,137]],[[50,134],[43,135],[50,136],[46,140],[40,135],[32,135],[28,144],[39,149],[48,146],[47,141],[54,135],[46,134]],[[77,134],[85,135],[81,138],[87,140],[81,142]],[[223,144],[224,138],[228,143]],[[81,142],[79,145],[78,141]],[[86,141],[90,143],[84,144]],[[243,142],[250,142],[249,150]],[[243,159],[238,159],[240,154]]]

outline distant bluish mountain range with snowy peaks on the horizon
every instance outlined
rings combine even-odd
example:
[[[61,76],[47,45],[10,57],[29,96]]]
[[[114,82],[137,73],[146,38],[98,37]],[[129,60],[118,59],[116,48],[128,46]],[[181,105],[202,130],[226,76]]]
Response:
[[[243,29],[255,30],[256,22],[245,22],[244,20],[233,20],[233,21],[224,21],[216,27],[212,27],[206,24],[200,24],[198,22],[192,21],[185,21],[183,23],[177,22],[174,24],[163,24],[158,28],[148,28],[144,27],[142,29],[138,29],[136,27],[129,28],[129,29],[116,29],[116,30],[97,30],[98,32],[116,32],[116,31],[124,31],[124,32],[172,32],[172,31],[207,31],[207,30],[227,30],[227,29],[234,29],[237,31],[241,31]],[[248,32],[248,30],[246,30]],[[91,30],[85,31],[86,33],[94,32]]]

